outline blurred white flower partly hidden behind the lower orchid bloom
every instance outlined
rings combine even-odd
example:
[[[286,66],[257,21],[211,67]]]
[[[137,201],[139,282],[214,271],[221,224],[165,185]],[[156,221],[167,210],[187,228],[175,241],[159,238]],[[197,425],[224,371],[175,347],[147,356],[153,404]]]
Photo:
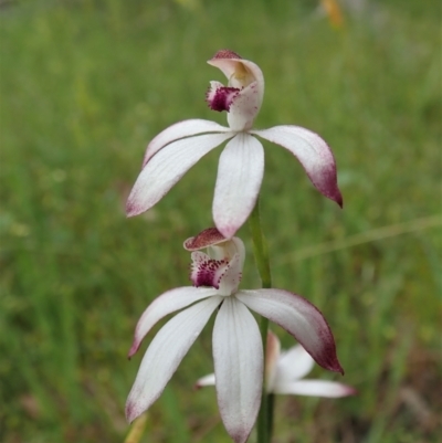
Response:
[[[281,352],[278,338],[269,331],[265,359],[266,391],[274,394],[296,394],[309,397],[339,398],[355,395],[356,389],[328,380],[304,380],[312,371],[315,360],[296,345]],[[196,388],[215,384],[214,373],[200,378]]]

